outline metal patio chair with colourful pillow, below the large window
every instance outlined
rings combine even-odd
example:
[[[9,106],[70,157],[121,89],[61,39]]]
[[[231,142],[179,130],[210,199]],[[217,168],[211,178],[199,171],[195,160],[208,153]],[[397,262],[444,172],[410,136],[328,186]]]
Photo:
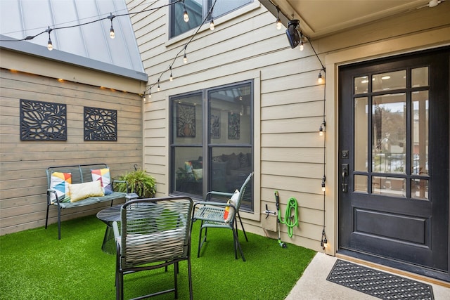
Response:
[[[245,229],[242,223],[242,220],[239,216],[239,207],[240,203],[245,196],[245,192],[249,188],[251,179],[253,176],[253,172],[245,179],[242,187],[238,192],[238,195],[234,195],[233,193],[223,193],[223,192],[208,192],[206,195],[206,201],[196,202],[194,204],[193,217],[192,222],[201,221],[200,225],[200,234],[198,237],[198,252],[197,257],[200,257],[200,249],[203,247],[203,244],[206,242],[207,238],[207,228],[226,228],[231,229],[233,232],[233,243],[234,243],[234,256],[235,259],[238,259],[238,249],[240,252],[240,256],[242,260],[245,261],[245,257],[240,247],[239,238],[238,238],[238,219],[240,222],[240,226],[242,227],[245,240],[248,241],[247,234],[245,233]],[[251,187],[250,187],[251,191]],[[231,199],[227,203],[223,202],[212,202],[212,196],[220,196],[220,197],[230,197]],[[236,198],[236,199],[233,199]],[[236,218],[237,216],[237,218]],[[192,224],[191,224],[192,227]],[[205,236],[202,237],[202,231],[205,229]]]

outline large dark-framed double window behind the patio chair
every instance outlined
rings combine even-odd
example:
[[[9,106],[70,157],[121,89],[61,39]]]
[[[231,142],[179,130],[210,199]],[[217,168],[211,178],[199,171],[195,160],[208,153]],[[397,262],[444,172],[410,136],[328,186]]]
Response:
[[[253,170],[252,84],[171,97],[172,193],[201,199],[210,190],[233,193],[244,183]],[[248,192],[241,207],[252,210]]]

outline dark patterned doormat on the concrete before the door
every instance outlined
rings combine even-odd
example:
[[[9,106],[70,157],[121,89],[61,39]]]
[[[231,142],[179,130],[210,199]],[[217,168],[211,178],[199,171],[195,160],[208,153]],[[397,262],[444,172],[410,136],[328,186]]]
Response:
[[[435,299],[431,285],[340,259],[326,280],[380,299]]]

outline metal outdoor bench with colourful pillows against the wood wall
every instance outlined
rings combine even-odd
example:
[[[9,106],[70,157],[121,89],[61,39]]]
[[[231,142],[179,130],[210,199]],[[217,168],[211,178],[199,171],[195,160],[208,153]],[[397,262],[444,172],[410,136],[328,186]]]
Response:
[[[51,205],[56,205],[56,207],[58,207],[58,240],[61,239],[61,209],[82,207],[106,201],[110,201],[112,206],[113,200],[125,198],[127,196],[127,193],[115,192],[113,190],[114,183],[126,182],[115,181],[113,178],[110,178],[110,176],[110,185],[106,187],[105,192],[105,187],[103,185],[104,183],[108,183],[107,180],[104,180],[104,178],[108,179],[106,174],[104,174],[102,181],[99,183],[101,185],[101,190],[103,190],[103,193],[101,193],[101,191],[98,190],[98,183],[96,182],[98,180],[92,180],[92,170],[96,170],[96,173],[99,172],[98,170],[102,170],[101,172],[109,174],[109,168],[106,164],[78,164],[73,166],[49,167],[46,169],[47,214],[45,228],[47,228],[47,223],[49,221],[49,208]],[[71,180],[68,179],[69,177]],[[73,194],[76,195],[77,198],[82,198],[82,200],[77,200],[75,198],[70,200],[70,190],[74,192]],[[84,197],[83,194],[87,196]]]

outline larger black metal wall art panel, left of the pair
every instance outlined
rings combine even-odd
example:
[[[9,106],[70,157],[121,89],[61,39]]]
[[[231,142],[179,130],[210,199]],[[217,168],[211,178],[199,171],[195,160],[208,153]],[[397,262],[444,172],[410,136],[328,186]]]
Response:
[[[65,104],[20,99],[20,141],[67,141]]]

